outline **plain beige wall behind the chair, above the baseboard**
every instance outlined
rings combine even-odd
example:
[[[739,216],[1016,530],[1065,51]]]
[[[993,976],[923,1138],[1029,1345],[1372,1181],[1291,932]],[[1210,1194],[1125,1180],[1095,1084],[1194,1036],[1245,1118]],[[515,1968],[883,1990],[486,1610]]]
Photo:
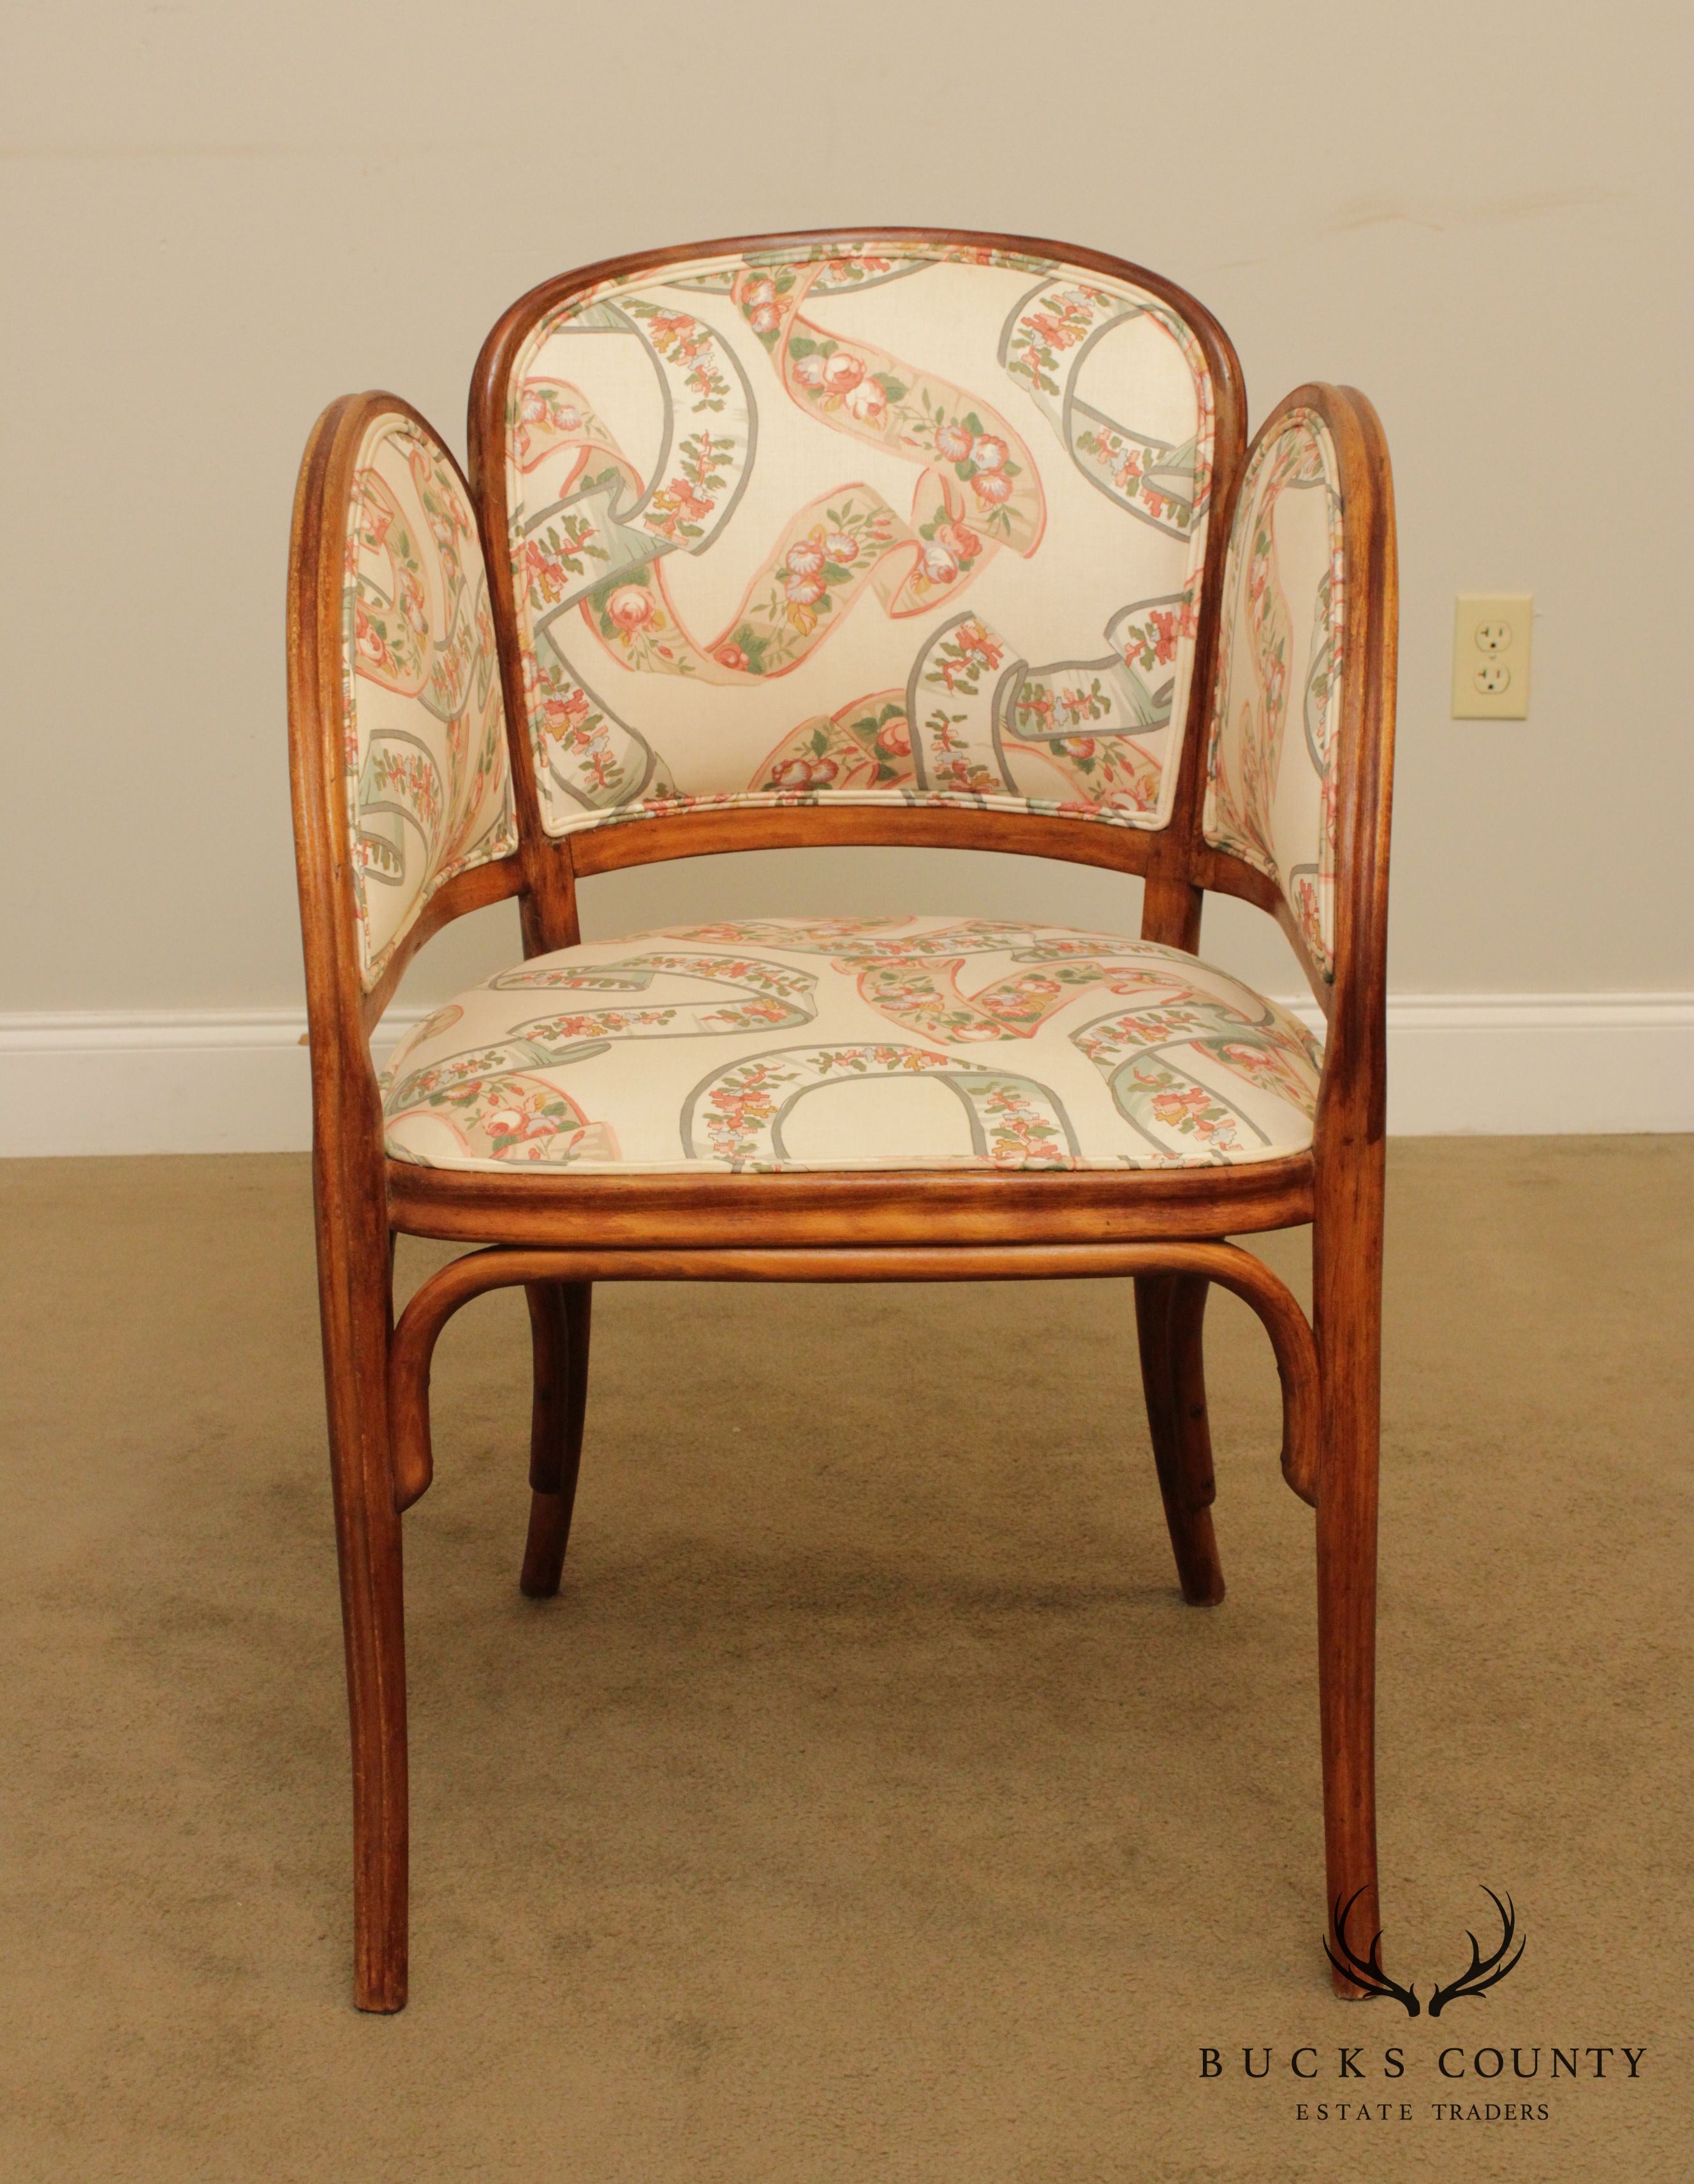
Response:
[[[1156,266],[1252,417],[1353,380],[1405,572],[1392,983],[1694,987],[1685,11],[861,0],[11,11],[0,869],[11,1009],[299,996],[282,574],[350,387],[463,450],[470,365],[549,273],[905,221]],[[1451,598],[1537,594],[1534,719],[1447,719]],[[1672,644],[1672,640],[1677,640]],[[590,933],[708,906],[1040,906],[1128,882],[815,852],[597,880]],[[1257,913],[1211,952],[1277,992]],[[422,959],[509,950],[509,906]]]

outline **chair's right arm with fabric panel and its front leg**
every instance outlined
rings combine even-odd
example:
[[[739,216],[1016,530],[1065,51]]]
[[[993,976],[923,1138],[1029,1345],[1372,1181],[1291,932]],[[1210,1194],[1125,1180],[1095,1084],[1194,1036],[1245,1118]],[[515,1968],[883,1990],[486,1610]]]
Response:
[[[1381,1924],[1377,1446],[1399,583],[1388,452],[1357,391],[1301,387],[1261,426],[1222,612],[1209,878],[1259,891],[1329,1018],[1311,1149],[1325,1839],[1331,1922],[1357,1904],[1368,1935]],[[1336,1985],[1360,1992],[1340,1972]]]

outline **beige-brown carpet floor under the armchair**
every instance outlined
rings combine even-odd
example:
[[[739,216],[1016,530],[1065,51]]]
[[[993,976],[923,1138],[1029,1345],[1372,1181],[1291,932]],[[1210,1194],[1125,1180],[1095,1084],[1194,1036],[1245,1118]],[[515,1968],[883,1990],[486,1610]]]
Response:
[[[1322,1979],[1257,1326],[1213,1304],[1231,1592],[1185,1610],[1119,1284],[603,1289],[549,1605],[522,1306],[470,1306],[407,1518],[413,2003],[356,2016],[306,1192],[0,1168],[7,2184],[1685,2175],[1694,1140],[1395,1147],[1390,1942],[1451,1977],[1482,1883],[1528,1937],[1438,2022]]]

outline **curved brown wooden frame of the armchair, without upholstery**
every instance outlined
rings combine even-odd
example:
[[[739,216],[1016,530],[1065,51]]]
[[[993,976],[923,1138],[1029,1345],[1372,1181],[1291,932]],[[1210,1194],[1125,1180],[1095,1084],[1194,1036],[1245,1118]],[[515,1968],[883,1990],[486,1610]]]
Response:
[[[317,422],[299,472],[289,568],[289,716],[295,847],[313,1057],[315,1201],[354,1778],[354,1998],[407,1996],[407,1704],[402,1511],[431,1483],[428,1369],[435,1337],[472,1295],[522,1286],[536,1396],[522,1590],[551,1594],[570,1529],[588,1387],[595,1282],[887,1282],[1128,1275],[1148,1420],[1183,1594],[1215,1603],[1202,1315],[1209,1284],[1244,1297],[1283,1380],[1283,1472],[1316,1507],[1327,1904],[1377,1931],[1375,1533],[1381,1339],[1384,950],[1397,638],[1395,522],[1375,411],[1353,389],[1296,389],[1318,411],[1342,472],[1346,550],[1344,712],[1336,972],[1327,983],[1277,887],[1200,834],[1204,723],[1222,614],[1228,518],[1246,459],[1235,352],[1180,288],[1117,258],[1019,236],[855,229],[1058,256],[1172,301],[1207,354],[1217,400],[1215,520],[1172,819],[1161,832],[925,806],[691,810],[549,839],[525,749],[501,454],[507,365],[540,314],[605,275],[715,251],[822,236],[752,236],[588,266],[536,288],[494,328],[470,402],[472,500],[483,529],[507,692],[520,847],[448,880],[372,992],[358,974],[341,758],[341,581],[354,459],[367,424],[417,413],[387,393],[345,395]],[[385,1158],[369,1035],[411,954],[466,911],[516,895],[525,952],[577,941],[577,878],[721,850],[879,843],[1012,850],[1106,865],[1145,880],[1141,933],[1193,952],[1204,891],[1274,915],[1327,1016],[1309,1153],[1250,1166],[1010,1173],[479,1175]],[[1311,1225],[1314,1317],[1257,1258],[1224,1238]],[[435,1273],[393,1324],[398,1234],[483,1245]],[[1364,1909],[1360,1909],[1360,1900]],[[1336,1974],[1336,1992],[1362,1990]]]

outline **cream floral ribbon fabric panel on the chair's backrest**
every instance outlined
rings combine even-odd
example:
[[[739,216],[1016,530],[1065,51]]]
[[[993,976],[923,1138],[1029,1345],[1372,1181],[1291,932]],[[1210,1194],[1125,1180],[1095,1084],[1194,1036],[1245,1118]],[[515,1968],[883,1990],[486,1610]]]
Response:
[[[551,834],[822,795],[1163,823],[1213,415],[1158,297],[940,245],[689,260],[570,297],[507,393]]]

